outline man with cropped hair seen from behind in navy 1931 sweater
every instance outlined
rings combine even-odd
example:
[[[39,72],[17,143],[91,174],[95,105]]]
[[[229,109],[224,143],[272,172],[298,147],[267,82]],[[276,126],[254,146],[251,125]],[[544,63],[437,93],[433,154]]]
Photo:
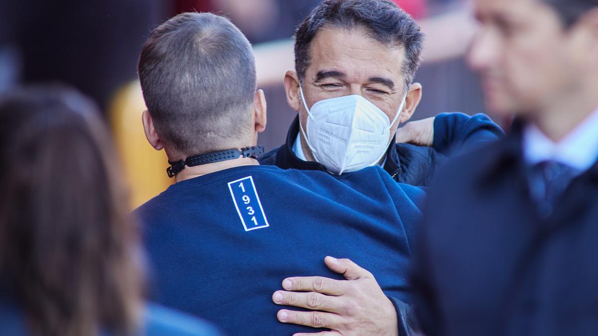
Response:
[[[350,277],[343,260],[321,262],[342,255],[376,273],[380,285],[367,295],[377,305],[362,308],[396,326],[386,295],[410,300],[423,191],[379,166],[341,176],[260,166],[266,102],[251,45],[224,17],[173,17],[151,32],[138,68],[147,139],[166,151],[176,181],[135,211],[152,298],[230,335],[324,331],[278,322],[271,292],[289,274]],[[364,279],[376,283],[371,273]]]

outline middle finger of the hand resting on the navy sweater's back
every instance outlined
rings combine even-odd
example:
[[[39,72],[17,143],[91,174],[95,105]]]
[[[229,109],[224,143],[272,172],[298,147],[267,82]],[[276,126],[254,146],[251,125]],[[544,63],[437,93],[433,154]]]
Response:
[[[331,311],[332,313],[340,313],[344,307],[343,297],[331,297],[315,292],[276,291],[272,295],[272,301],[276,304],[284,304],[285,306]]]

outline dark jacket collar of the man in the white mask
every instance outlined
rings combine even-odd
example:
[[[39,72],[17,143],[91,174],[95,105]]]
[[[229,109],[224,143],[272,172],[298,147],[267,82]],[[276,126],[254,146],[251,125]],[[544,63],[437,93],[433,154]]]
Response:
[[[326,172],[326,167],[318,163],[316,161],[303,161],[295,155],[293,151],[293,145],[295,144],[295,139],[297,139],[297,135],[299,134],[299,115],[295,117],[293,120],[291,127],[289,128],[289,132],[286,134],[286,142],[284,145],[280,146],[278,152],[276,153],[276,166],[282,169],[302,169],[302,170],[321,170]],[[393,150],[391,150],[393,149]],[[386,150],[386,163],[383,167],[386,172],[396,178],[396,175],[401,172],[401,167],[399,165],[399,155],[395,149],[395,138],[392,138],[388,149]]]

